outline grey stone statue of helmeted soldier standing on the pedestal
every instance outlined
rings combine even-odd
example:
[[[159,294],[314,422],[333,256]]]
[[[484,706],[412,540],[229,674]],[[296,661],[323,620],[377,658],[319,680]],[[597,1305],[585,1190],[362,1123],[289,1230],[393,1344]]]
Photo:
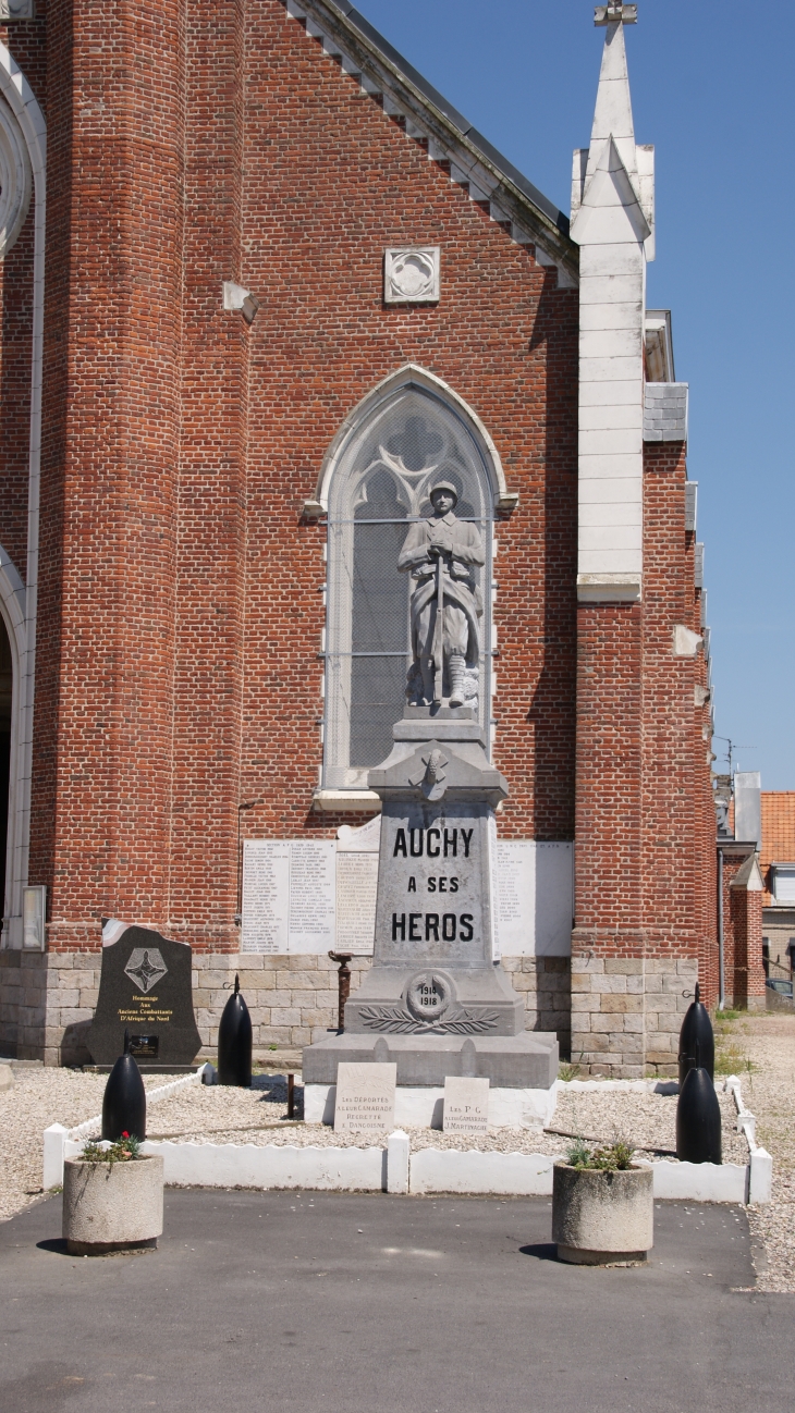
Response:
[[[430,492],[433,517],[416,521],[398,557],[398,568],[416,581],[412,593],[412,653],[409,680],[422,675],[420,705],[440,705],[444,674],[450,706],[464,705],[465,667],[478,661],[481,592],[472,567],[485,564],[477,526],[457,520],[458,492],[437,480]]]

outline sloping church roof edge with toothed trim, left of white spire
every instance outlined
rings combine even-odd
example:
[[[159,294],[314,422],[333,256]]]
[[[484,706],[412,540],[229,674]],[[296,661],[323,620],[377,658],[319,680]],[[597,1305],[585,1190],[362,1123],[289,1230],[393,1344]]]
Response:
[[[491,203],[495,220],[511,223],[519,243],[536,242],[536,259],[556,264],[559,284],[576,284],[579,252],[569,237],[569,218],[513,167],[453,103],[433,88],[348,0],[282,0],[306,24],[324,54],[337,58],[385,112],[406,117],[406,131],[429,140],[429,157],[450,161],[453,181],[470,188],[472,201]]]

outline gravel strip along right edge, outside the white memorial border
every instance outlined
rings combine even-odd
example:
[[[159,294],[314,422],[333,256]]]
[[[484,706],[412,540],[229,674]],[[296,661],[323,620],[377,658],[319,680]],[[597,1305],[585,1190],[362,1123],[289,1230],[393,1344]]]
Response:
[[[750,1060],[755,1072],[736,1072],[743,1098],[757,1115],[757,1143],[772,1153],[772,1201],[750,1207],[767,1269],[758,1263],[757,1289],[795,1294],[795,1016],[772,1013],[726,1026],[724,1053]]]

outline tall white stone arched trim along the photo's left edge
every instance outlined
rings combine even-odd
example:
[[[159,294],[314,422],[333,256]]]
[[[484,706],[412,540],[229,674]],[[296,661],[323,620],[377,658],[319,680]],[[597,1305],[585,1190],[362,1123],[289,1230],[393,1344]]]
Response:
[[[44,346],[44,237],[47,129],[33,90],[0,44],[0,92],[14,114],[25,140],[34,189],[33,319],[31,319],[31,389],[28,447],[28,543],[27,588],[7,555],[1,557],[0,596],[4,617],[14,629],[11,651],[17,654],[14,701],[11,705],[11,796],[8,810],[10,877],[6,892],[3,947],[23,945],[23,887],[28,876],[30,787],[33,771],[33,701],[35,674],[35,620],[38,593],[38,504],[41,480],[41,363]],[[13,571],[13,572],[11,572]],[[14,608],[16,605],[16,608]],[[23,622],[20,623],[20,613]]]

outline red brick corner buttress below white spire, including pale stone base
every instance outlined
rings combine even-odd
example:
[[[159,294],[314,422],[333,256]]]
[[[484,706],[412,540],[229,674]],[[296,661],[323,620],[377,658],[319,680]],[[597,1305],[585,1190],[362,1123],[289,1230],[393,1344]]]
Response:
[[[710,779],[703,667],[673,651],[675,625],[699,615],[692,540],[683,448],[646,447],[642,602],[579,609],[571,1056],[594,1074],[673,1072],[699,954],[714,944],[714,834],[693,811]]]

